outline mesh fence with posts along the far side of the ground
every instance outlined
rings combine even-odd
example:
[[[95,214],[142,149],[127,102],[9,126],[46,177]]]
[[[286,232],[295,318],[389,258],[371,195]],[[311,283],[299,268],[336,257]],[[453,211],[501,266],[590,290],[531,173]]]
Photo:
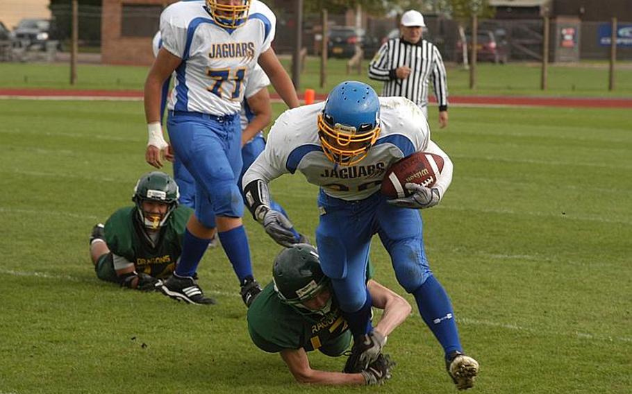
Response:
[[[51,6],[50,41],[44,51],[30,53],[28,46],[13,42],[8,46],[0,42],[0,60],[29,60],[35,56],[38,60],[54,58],[55,51],[69,51],[72,10],[70,3]],[[150,37],[158,28],[160,7],[153,7],[151,12],[137,6],[124,7],[122,15],[121,35]],[[278,53],[290,54],[294,47],[294,24],[291,12],[277,12],[276,40],[274,48]],[[317,55],[322,48],[322,23],[320,15],[303,15],[303,47],[310,55]],[[101,6],[79,6],[78,46],[80,52],[99,53],[101,45]],[[126,21],[128,23],[126,23]],[[340,28],[349,26],[349,15],[329,15],[330,26]],[[555,19],[550,22],[551,39],[549,42],[549,60],[551,62],[579,60],[607,60],[610,57],[610,21],[581,22],[575,25],[560,23]],[[488,42],[494,42],[494,54],[481,55],[479,60],[495,62],[521,62],[542,60],[543,19],[482,19],[479,20],[479,51]],[[424,38],[435,43],[447,62],[463,61],[463,36],[469,32],[469,21],[457,22],[440,15],[426,16],[427,31]],[[460,29],[462,28],[462,29]],[[379,46],[389,37],[397,36],[397,19],[387,17],[364,17],[362,28],[356,29],[358,44],[371,58]],[[103,30],[108,34],[108,28]],[[618,60],[632,60],[632,22],[619,22]],[[481,42],[482,40],[482,42]],[[488,48],[487,50],[490,51]],[[45,52],[46,54],[42,54]],[[351,55],[349,55],[350,57]]]

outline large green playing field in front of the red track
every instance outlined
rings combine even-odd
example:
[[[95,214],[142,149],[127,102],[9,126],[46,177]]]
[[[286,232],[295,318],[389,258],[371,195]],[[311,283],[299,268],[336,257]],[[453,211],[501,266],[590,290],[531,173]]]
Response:
[[[455,174],[424,212],[426,248],[481,363],[473,392],[629,393],[629,111],[453,108],[447,130],[434,118]],[[150,170],[142,104],[0,100],[0,119],[0,393],[456,392],[416,308],[390,336],[398,366],[385,386],[301,388],[278,355],[251,344],[222,250],[199,269],[213,307],[100,282],[90,229],[131,204]],[[272,191],[313,237],[315,187],[288,175]],[[267,283],[279,248],[245,223]],[[402,293],[379,241],[372,261]]]

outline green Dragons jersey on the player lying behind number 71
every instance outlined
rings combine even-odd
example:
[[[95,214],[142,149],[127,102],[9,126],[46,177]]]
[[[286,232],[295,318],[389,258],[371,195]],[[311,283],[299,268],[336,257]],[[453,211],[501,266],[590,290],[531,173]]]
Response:
[[[106,243],[115,255],[133,262],[136,272],[167,277],[174,272],[181,255],[182,237],[192,212],[184,206],[174,209],[153,246],[138,219],[136,207],[121,208],[106,222]]]

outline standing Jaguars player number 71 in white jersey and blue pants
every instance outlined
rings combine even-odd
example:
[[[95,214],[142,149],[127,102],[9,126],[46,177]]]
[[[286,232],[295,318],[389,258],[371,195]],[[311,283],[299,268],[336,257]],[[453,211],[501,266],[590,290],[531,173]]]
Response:
[[[195,180],[195,212],[187,223],[180,262],[162,286],[166,295],[208,304],[192,275],[215,234],[249,305],[261,291],[254,280],[243,203],[239,112],[244,84],[258,63],[290,108],[299,101],[290,77],[271,48],[276,17],[257,0],[180,1],[160,15],[163,46],[144,89],[149,142],[145,159],[162,166],[168,147],[160,127],[164,81],[176,72],[167,130],[178,159]]]

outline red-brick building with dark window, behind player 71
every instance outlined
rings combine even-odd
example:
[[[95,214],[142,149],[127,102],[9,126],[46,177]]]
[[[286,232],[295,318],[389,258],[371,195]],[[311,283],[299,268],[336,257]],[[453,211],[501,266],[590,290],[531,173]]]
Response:
[[[108,65],[150,65],[160,12],[176,0],[103,0],[101,58]]]

